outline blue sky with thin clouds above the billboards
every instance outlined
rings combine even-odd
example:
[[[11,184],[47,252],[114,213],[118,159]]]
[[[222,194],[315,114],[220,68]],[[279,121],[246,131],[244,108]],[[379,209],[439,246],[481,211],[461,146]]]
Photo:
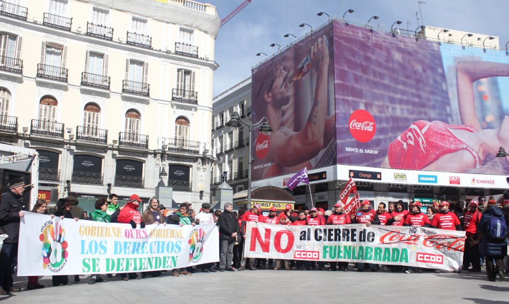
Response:
[[[244,0],[203,2],[214,5],[223,19]],[[509,41],[507,0],[421,2],[424,3],[419,10],[418,0],[252,0],[219,29],[215,41],[215,61],[219,68],[214,72],[213,96],[251,76],[251,67],[266,59],[264,55],[256,56],[258,52],[271,56],[278,47],[270,47],[270,44],[284,47],[294,41],[292,36],[284,38],[284,34],[291,33],[300,38],[310,31],[308,26],[299,27],[299,24],[307,23],[317,28],[326,23],[326,15],[317,16],[320,11],[341,18],[344,12],[353,9],[353,13],[346,15],[346,20],[360,24],[366,24],[377,15],[379,19],[370,24],[386,30],[399,20],[403,23],[396,27],[410,31],[425,25],[497,36],[502,49]]]

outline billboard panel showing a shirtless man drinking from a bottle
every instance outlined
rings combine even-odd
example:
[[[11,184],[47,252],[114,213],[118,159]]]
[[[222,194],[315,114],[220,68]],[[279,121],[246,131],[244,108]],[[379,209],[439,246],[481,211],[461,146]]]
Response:
[[[253,130],[253,180],[335,163],[332,45],[328,25],[253,69],[252,119],[274,129]]]

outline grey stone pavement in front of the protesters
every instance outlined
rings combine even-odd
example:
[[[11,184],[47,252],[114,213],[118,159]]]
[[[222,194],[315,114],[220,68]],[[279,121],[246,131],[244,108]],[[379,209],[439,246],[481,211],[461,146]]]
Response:
[[[69,276],[72,282],[73,277]],[[2,304],[36,303],[509,303],[509,278],[489,282],[482,273],[387,273],[273,271],[195,273],[192,276],[88,285],[88,277],[64,287],[0,296]],[[40,279],[51,285],[51,277]],[[26,281],[14,284],[25,287]]]

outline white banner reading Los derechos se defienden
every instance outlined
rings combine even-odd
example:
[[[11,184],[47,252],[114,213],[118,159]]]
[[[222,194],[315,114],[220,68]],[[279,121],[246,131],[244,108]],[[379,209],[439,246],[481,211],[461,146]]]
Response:
[[[25,212],[18,276],[169,270],[219,261],[219,230],[208,225],[147,225],[51,219]]]

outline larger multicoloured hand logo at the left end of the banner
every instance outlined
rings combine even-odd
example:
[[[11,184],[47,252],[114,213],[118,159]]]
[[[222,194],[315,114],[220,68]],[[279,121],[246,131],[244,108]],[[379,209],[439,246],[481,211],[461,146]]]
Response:
[[[65,230],[60,222],[48,221],[41,228],[39,240],[43,243],[42,257],[44,269],[57,273],[67,263],[69,252],[65,241]]]

